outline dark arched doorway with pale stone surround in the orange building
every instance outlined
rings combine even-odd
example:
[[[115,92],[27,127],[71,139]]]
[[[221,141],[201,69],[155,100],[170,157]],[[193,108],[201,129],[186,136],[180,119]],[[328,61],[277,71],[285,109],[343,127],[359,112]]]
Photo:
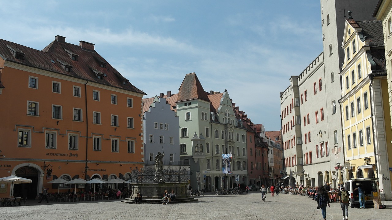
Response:
[[[23,166],[15,171],[15,175],[18,177],[31,179],[32,182],[28,184],[15,184],[14,197],[27,197],[27,199],[35,199],[38,188],[38,170],[33,167]]]

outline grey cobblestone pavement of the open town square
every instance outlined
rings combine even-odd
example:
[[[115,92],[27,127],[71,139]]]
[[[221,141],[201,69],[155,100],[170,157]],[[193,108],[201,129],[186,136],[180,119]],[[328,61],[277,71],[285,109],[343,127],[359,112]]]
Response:
[[[212,195],[197,197],[198,202],[162,204],[127,204],[120,200],[92,202],[27,201],[27,206],[0,207],[0,220],[74,220],[74,219],[131,219],[131,220],[319,220],[323,219],[317,203],[307,196],[267,194]],[[392,202],[386,209],[348,208],[350,220],[392,220]],[[327,219],[343,219],[339,203],[327,207]]]

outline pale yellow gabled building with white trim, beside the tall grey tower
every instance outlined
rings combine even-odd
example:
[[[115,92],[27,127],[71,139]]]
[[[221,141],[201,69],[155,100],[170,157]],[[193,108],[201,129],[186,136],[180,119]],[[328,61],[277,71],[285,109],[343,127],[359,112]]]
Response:
[[[387,137],[391,135],[383,29],[378,20],[346,20],[340,73],[345,175],[379,178],[380,189],[391,191]],[[385,120],[387,119],[387,120]],[[384,179],[384,180],[383,180]]]

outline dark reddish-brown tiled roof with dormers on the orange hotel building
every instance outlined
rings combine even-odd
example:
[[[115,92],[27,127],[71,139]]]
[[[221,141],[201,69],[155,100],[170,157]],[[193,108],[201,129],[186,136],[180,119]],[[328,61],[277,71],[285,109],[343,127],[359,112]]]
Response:
[[[16,59],[12,50],[24,54],[23,59]],[[72,60],[70,54],[76,55],[77,61]],[[36,50],[0,39],[0,56],[10,62],[146,95],[107,63],[94,50],[94,44],[85,41],[80,41],[80,45],[74,45],[66,43],[65,37],[56,36],[56,40],[52,41],[43,50]],[[100,61],[105,63],[105,67],[100,66]],[[71,71],[65,71],[62,63],[71,66]],[[93,69],[102,73],[103,78],[98,79]]]

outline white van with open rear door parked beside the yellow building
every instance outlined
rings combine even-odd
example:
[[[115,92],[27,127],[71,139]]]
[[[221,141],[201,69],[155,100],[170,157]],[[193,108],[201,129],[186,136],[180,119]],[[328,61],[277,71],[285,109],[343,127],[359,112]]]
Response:
[[[359,206],[358,190],[355,190],[358,186],[361,186],[363,191],[365,191],[365,206],[373,205],[373,192],[378,192],[377,178],[361,178],[347,180],[344,186],[347,192],[350,194],[350,207]]]

